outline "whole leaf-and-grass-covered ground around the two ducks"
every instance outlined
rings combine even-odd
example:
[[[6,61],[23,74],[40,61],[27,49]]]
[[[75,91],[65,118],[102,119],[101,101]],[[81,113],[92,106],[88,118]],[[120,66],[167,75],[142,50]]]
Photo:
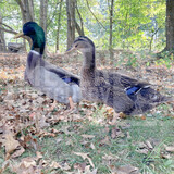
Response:
[[[135,116],[82,101],[78,114],[24,82],[26,53],[0,54],[0,172],[4,174],[173,174],[174,108],[161,104]],[[144,53],[97,52],[99,69],[146,80],[174,96],[171,59]],[[82,55],[50,54],[47,61],[75,74]]]

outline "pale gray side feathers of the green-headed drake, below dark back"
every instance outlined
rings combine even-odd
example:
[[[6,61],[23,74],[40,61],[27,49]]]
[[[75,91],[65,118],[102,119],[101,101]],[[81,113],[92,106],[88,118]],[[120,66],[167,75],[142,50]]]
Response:
[[[61,103],[67,104],[69,97],[73,96],[70,85],[44,66],[36,66],[27,77],[33,87]]]

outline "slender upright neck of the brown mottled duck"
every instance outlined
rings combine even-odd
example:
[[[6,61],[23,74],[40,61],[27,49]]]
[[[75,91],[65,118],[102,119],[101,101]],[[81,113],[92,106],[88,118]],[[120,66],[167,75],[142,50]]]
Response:
[[[90,71],[96,69],[95,48],[90,51],[84,52],[83,69],[89,69]]]

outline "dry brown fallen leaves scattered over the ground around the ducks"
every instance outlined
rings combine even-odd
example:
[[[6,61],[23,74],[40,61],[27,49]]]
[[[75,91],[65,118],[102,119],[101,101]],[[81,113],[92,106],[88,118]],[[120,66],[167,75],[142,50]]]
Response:
[[[101,125],[111,125],[111,128],[105,127],[104,132],[108,135],[98,141],[101,146],[110,146],[112,139],[132,138],[128,132],[130,125],[123,125],[123,123],[120,122],[120,119],[125,119],[125,115],[114,113],[113,109],[107,105],[99,107],[98,103],[83,101],[80,103],[80,113],[78,114],[64,115],[65,107],[63,104],[58,104],[55,111],[50,112],[49,108],[52,104],[52,100],[44,96],[44,94],[38,92],[34,88],[29,87],[28,84],[23,79],[25,61],[26,54],[0,54],[0,147],[4,147],[4,162],[0,169],[1,172],[10,166],[10,169],[17,174],[23,174],[25,172],[41,173],[42,169],[49,167],[51,170],[60,169],[62,171],[73,173],[71,172],[72,166],[69,163],[44,160],[41,152],[39,152],[40,147],[38,145],[38,138],[57,137],[62,133],[67,136],[72,136],[78,132],[75,129],[70,130],[72,127],[69,125],[63,126],[61,129],[51,128],[51,126],[59,124],[60,122],[86,123],[88,121],[92,121]],[[60,63],[57,62],[57,60],[50,61],[53,61],[54,64]],[[80,63],[77,64],[80,67]],[[62,66],[62,64],[59,65]],[[71,65],[67,67],[67,70],[74,72],[75,74],[79,73],[77,72],[78,69],[74,69]],[[126,71],[128,73],[129,70]],[[162,84],[165,83],[165,91],[169,94],[170,91],[173,91],[173,71],[167,70],[164,66],[150,66],[148,69],[142,66],[141,72],[142,74],[138,74],[138,72],[134,72],[134,74],[133,72],[129,73],[133,76],[139,76],[141,79],[148,79],[152,84],[158,84],[159,90],[164,91]],[[152,73],[156,75],[152,76]],[[103,111],[99,113],[101,110]],[[169,112],[162,112],[165,115],[174,116],[174,107],[171,108]],[[100,117],[94,117],[94,114],[96,113],[99,113]],[[156,113],[156,109],[152,110],[152,113]],[[145,119],[146,116],[142,115],[142,120]],[[82,134],[80,136],[86,139],[86,142],[90,141],[90,149],[96,150],[96,145],[91,142],[91,140],[97,137],[96,135]],[[62,138],[57,138],[58,144],[61,141],[63,141]],[[73,142],[69,140],[66,145],[73,145]],[[35,149],[36,157],[22,158],[21,162],[15,160],[25,153],[25,151],[29,148]],[[147,156],[153,149],[154,147],[152,144],[147,140],[141,142],[141,145],[139,144],[137,152]],[[171,153],[173,152],[173,146],[165,146],[164,151],[161,152],[161,158],[170,159],[172,156]],[[84,163],[76,165],[78,173],[97,173],[98,170],[95,167],[95,163],[90,158],[90,153],[74,152],[74,154],[82,157],[84,160]],[[114,154],[104,154],[102,157],[102,162],[108,164],[112,173],[116,172],[116,174],[122,174],[126,172],[134,173],[138,171],[137,167],[132,165],[120,167],[112,166],[111,164],[117,160],[120,160],[120,157]]]

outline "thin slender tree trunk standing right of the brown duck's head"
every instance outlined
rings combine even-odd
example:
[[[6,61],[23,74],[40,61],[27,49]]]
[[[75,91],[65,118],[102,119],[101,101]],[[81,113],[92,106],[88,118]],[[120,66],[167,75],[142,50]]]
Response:
[[[110,59],[111,59],[111,60],[113,60],[113,45],[112,45],[113,3],[114,3],[114,0],[111,0],[111,5],[109,5],[109,11],[110,11],[110,38],[109,38],[109,50],[110,50]]]

